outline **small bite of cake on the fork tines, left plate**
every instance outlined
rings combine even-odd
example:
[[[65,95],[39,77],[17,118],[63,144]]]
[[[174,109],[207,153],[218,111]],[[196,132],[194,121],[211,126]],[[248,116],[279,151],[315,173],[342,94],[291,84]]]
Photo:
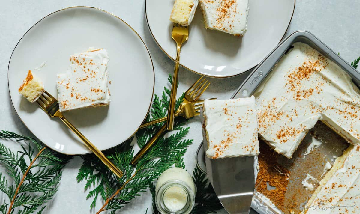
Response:
[[[44,83],[42,83],[40,79],[33,76],[31,70],[29,70],[26,78],[19,88],[20,94],[22,94],[28,101],[33,103],[44,91]]]

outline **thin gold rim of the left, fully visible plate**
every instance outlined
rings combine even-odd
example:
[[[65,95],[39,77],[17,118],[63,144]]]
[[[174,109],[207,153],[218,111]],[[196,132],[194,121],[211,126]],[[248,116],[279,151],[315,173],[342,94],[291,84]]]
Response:
[[[23,120],[22,120],[21,117],[19,116],[18,112],[16,111],[15,106],[14,106],[14,103],[13,103],[13,100],[12,100],[12,98],[11,98],[11,94],[10,94],[10,86],[9,86],[9,67],[10,67],[11,58],[12,58],[12,56],[13,56],[13,53],[14,53],[16,47],[18,46],[18,44],[20,43],[20,41],[22,40],[22,38],[23,38],[33,27],[35,27],[36,24],[38,24],[39,22],[41,22],[43,19],[45,19],[46,17],[48,17],[48,16],[50,16],[50,15],[52,15],[52,14],[54,14],[54,13],[60,12],[60,11],[62,11],[62,10],[73,9],[73,8],[90,8],[90,9],[96,9],[96,10],[100,10],[100,11],[102,11],[102,12],[105,12],[105,13],[107,13],[107,14],[109,14],[109,15],[112,15],[112,16],[118,18],[118,19],[119,19],[120,21],[122,21],[123,23],[125,23],[128,27],[130,27],[130,29],[131,29],[132,31],[134,31],[134,33],[135,33],[136,35],[138,35],[138,37],[140,38],[141,42],[143,42],[146,50],[148,51],[149,57],[150,57],[150,62],[151,62],[152,68],[153,68],[153,76],[154,76],[153,93],[152,93],[152,96],[151,96],[151,100],[150,100],[148,112],[147,112],[147,114],[145,115],[145,118],[143,119],[143,122],[141,122],[141,124],[143,124],[144,121],[145,121],[145,119],[147,118],[147,116],[148,116],[148,114],[149,114],[149,111],[150,111],[150,108],[151,108],[151,104],[152,104],[152,102],[153,102],[154,89],[155,89],[154,63],[153,63],[153,59],[151,58],[150,51],[149,51],[148,47],[146,46],[144,40],[140,37],[139,33],[136,32],[135,29],[132,28],[132,27],[131,27],[128,23],[126,23],[123,19],[121,19],[121,18],[118,17],[117,15],[114,15],[114,14],[112,14],[112,13],[107,12],[106,10],[103,10],[103,9],[100,9],[100,8],[94,8],[94,7],[90,7],[90,6],[72,6],[72,7],[63,8],[63,9],[57,10],[57,11],[55,11],[55,12],[53,12],[53,13],[50,13],[50,14],[46,15],[45,17],[41,18],[39,21],[37,21],[30,29],[28,29],[28,30],[24,33],[24,35],[23,35],[23,36],[20,38],[20,40],[17,42],[17,44],[16,44],[15,47],[14,47],[13,52],[12,52],[11,55],[10,55],[9,64],[8,64],[8,88],[9,88],[9,96],[10,96],[10,101],[11,101],[11,103],[13,104],[13,109],[14,109],[16,115],[18,115],[18,117],[19,117],[19,119],[21,120],[21,122],[22,122],[22,123],[24,124],[24,126],[31,132],[31,134],[34,135],[34,134],[32,133],[32,131],[26,126],[26,124],[23,122]],[[140,124],[140,125],[141,125],[141,124]],[[140,127],[140,126],[139,126],[139,127]],[[134,133],[132,133],[132,135],[131,135],[129,138],[127,138],[124,142],[126,142],[127,140],[129,140],[138,130],[139,130],[139,128],[136,129],[136,131],[135,131]],[[35,136],[35,135],[34,135],[34,136]],[[118,144],[118,145],[121,145],[121,144],[123,144],[124,142],[121,142],[121,143]],[[44,143],[46,146],[48,146],[45,142],[42,142],[42,143]],[[118,145],[116,145],[116,146],[118,146]],[[110,147],[110,148],[108,148],[108,149],[104,149],[104,150],[102,150],[102,151],[112,149],[112,148],[114,148],[114,147],[116,147],[116,146]],[[48,147],[51,149],[50,146],[48,146]],[[55,151],[55,150],[54,150],[54,151]],[[64,153],[64,152],[61,152],[61,151],[56,151],[56,152],[59,152],[59,153],[61,153],[61,154],[65,154],[65,155],[74,155],[74,154],[67,154],[67,153]],[[93,154],[93,152],[81,153],[81,154],[76,154],[76,155],[87,155],[87,154]]]

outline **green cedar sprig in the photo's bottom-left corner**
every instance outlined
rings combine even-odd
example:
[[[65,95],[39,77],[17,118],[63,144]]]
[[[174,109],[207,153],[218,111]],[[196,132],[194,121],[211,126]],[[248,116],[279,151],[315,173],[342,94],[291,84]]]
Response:
[[[61,170],[70,156],[57,154],[35,139],[13,132],[1,131],[0,138],[28,142],[27,145],[20,144],[22,151],[16,153],[0,143],[0,163],[5,167],[6,174],[14,180],[8,181],[0,172],[0,190],[9,201],[3,199],[0,211],[12,214],[17,208],[20,214],[36,210],[42,213],[46,207],[42,205],[51,200],[58,190]]]

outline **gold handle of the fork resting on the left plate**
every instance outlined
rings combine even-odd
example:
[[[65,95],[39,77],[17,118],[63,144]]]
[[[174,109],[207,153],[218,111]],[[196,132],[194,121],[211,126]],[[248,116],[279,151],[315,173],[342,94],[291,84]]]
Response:
[[[60,119],[66,124],[71,131],[73,131],[82,141],[84,141],[85,145],[92,151],[98,158],[113,172],[117,177],[121,178],[124,173],[117,168],[104,154],[101,152],[94,144],[92,144],[87,138],[81,134],[77,128],[75,128],[66,118],[60,117]]]

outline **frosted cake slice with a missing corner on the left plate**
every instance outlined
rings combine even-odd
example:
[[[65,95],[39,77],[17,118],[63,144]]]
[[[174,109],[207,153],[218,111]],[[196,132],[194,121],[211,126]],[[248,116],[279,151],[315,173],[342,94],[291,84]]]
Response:
[[[110,104],[109,56],[105,49],[70,56],[66,73],[58,74],[60,111]]]

